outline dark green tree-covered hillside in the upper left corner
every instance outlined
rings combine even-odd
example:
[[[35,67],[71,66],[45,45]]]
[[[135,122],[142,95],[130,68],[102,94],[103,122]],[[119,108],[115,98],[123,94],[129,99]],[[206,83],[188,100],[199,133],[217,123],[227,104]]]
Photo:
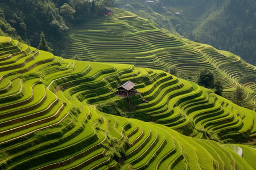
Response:
[[[60,56],[74,25],[104,15],[105,6],[112,5],[111,0],[0,0],[0,35],[38,47],[43,32],[53,53]]]

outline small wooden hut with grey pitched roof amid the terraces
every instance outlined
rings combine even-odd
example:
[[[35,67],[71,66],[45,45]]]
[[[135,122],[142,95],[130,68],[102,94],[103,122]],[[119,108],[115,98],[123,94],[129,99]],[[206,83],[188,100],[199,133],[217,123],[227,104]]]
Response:
[[[133,94],[136,94],[137,90],[135,89],[136,83],[131,82],[130,80],[125,82],[122,86],[117,88],[117,95],[126,97]]]

